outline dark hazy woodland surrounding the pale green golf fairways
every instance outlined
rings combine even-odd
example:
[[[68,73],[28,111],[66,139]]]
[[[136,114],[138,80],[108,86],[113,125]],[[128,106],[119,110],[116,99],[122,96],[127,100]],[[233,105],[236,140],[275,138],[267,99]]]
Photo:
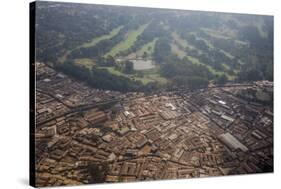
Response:
[[[59,6],[50,8],[53,4]],[[179,45],[181,50],[197,58],[201,63],[212,66],[215,70],[226,72],[228,75],[235,75],[234,70],[240,70],[238,81],[273,80],[273,19],[271,17],[263,17],[264,25],[258,28],[253,23],[258,22],[259,19],[245,15],[234,15],[233,19],[226,21],[222,16],[212,13],[192,12],[185,15],[166,10],[151,11],[145,8],[101,5],[72,6],[52,2],[38,3],[38,9],[36,58],[43,62],[56,63],[57,59],[68,50],[75,49],[94,37],[108,34],[118,26],[124,26],[112,38],[102,40],[92,47],[76,48],[68,55],[68,62],[55,64],[57,69],[96,88],[119,91],[150,91],[159,88],[157,83],[144,86],[139,81],[113,75],[106,69],[99,68],[114,66],[123,73],[135,74],[132,62],[116,64],[112,56],[104,58],[103,55],[124,40],[129,30],[145,23],[149,24],[137,37],[135,43],[119,55],[125,56],[136,52],[143,45],[157,38],[153,57],[160,67],[161,76],[171,81],[175,87],[202,88],[206,87],[210,80],[214,80],[217,84],[224,84],[227,82],[227,76],[225,74],[214,76],[204,65],[192,64],[187,58],[179,59],[173,56],[170,46],[173,31],[196,47],[191,49]],[[202,28],[213,30],[227,28],[237,35],[237,39],[213,37]],[[265,36],[261,35],[261,30]],[[204,39],[214,47],[210,48]],[[246,45],[237,45],[236,42],[239,40],[242,43],[246,42],[244,43]],[[229,52],[234,58],[227,56],[221,50]],[[143,57],[147,56],[148,53],[145,52]],[[76,58],[92,58],[96,66],[87,69],[75,65],[72,60]]]

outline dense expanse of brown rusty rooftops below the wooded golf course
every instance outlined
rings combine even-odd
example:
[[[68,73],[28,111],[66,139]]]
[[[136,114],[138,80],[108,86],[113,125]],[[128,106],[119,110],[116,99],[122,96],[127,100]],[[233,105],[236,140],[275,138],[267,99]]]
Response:
[[[103,91],[36,63],[36,184],[271,172],[272,93],[270,82],[154,95]],[[112,99],[111,107],[94,106]]]

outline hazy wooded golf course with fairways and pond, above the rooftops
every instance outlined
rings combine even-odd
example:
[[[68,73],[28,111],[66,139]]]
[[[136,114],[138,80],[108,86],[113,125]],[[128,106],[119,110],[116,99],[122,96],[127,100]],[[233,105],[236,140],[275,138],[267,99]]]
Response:
[[[271,16],[54,2],[37,7],[37,61],[94,87],[149,91],[273,80]]]

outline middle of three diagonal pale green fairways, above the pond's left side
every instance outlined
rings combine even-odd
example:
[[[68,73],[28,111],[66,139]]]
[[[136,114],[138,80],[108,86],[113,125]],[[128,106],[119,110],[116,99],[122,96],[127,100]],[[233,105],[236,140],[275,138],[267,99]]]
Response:
[[[116,56],[118,52],[125,51],[129,49],[134,42],[137,40],[137,37],[143,32],[143,30],[148,26],[148,24],[141,25],[137,30],[131,30],[126,33],[125,40],[121,41],[115,45],[105,56],[111,55]]]

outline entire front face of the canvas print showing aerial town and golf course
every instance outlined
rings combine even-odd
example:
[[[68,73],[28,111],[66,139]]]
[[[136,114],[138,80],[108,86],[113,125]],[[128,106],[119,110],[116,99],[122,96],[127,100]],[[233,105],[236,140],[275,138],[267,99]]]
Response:
[[[37,187],[273,172],[273,17],[36,11]]]

